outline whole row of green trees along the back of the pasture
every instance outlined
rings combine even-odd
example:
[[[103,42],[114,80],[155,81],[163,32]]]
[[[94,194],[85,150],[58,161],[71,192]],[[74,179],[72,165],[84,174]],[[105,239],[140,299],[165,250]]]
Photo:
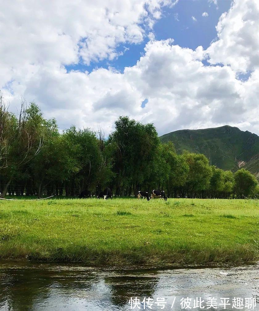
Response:
[[[104,136],[101,128],[71,126],[60,132],[39,107],[21,100],[11,113],[0,93],[0,193],[6,195],[93,195],[104,187],[113,195],[136,196],[139,190],[163,189],[168,197],[253,198],[257,179],[209,164],[203,154],[178,155],[172,142],[162,144],[153,124],[127,116]]]

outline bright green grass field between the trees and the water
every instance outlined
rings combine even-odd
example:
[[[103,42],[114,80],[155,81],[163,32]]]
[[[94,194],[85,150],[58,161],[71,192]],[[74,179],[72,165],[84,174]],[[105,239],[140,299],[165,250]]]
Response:
[[[0,201],[0,258],[151,266],[259,260],[255,200]]]

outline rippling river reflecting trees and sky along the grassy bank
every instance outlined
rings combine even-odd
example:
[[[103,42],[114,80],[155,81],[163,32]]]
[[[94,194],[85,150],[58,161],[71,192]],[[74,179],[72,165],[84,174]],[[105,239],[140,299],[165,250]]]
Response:
[[[1,262],[0,270],[1,311],[190,310],[196,305],[194,310],[216,310],[210,305],[238,310],[233,308],[238,301],[243,310],[259,310],[259,263],[162,270]]]

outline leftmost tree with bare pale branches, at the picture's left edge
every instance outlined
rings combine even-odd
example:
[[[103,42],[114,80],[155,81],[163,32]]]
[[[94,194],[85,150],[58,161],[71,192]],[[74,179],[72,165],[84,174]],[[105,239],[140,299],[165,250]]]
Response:
[[[8,106],[0,96],[0,149],[1,149],[1,197],[4,197],[12,179],[19,175],[23,166],[40,151],[44,140],[42,114],[34,103],[29,108],[21,99],[18,116],[8,112]]]

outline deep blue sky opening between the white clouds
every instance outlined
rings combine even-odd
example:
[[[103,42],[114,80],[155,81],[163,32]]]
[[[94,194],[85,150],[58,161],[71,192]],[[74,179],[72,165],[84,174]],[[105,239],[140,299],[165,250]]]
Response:
[[[228,12],[230,6],[230,0],[218,1],[217,5],[207,0],[180,0],[171,8],[163,8],[162,16],[155,22],[152,32],[156,40],[172,38],[174,39],[173,44],[178,44],[183,48],[195,50],[201,45],[203,49],[207,49],[210,42],[217,38],[215,26],[221,14]],[[209,16],[203,17],[203,12],[207,12]],[[193,21],[192,16],[197,21]],[[116,70],[123,72],[125,67],[136,64],[144,53],[148,41],[149,39],[146,36],[141,44],[121,44],[117,50],[123,52],[123,55],[112,61],[107,59],[98,62],[93,61],[89,66],[84,65],[81,61],[76,65],[66,66],[66,68],[68,71],[72,69],[91,72],[100,67],[114,67]]]

